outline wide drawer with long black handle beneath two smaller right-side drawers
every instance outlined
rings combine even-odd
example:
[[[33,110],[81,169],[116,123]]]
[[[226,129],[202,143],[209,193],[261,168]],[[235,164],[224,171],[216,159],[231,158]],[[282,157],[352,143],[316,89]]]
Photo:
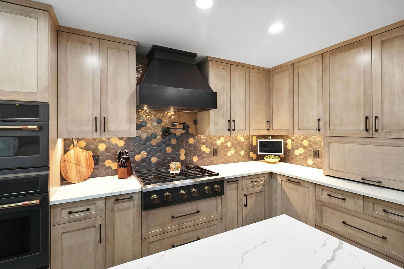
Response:
[[[404,228],[316,200],[316,225],[404,262]]]

